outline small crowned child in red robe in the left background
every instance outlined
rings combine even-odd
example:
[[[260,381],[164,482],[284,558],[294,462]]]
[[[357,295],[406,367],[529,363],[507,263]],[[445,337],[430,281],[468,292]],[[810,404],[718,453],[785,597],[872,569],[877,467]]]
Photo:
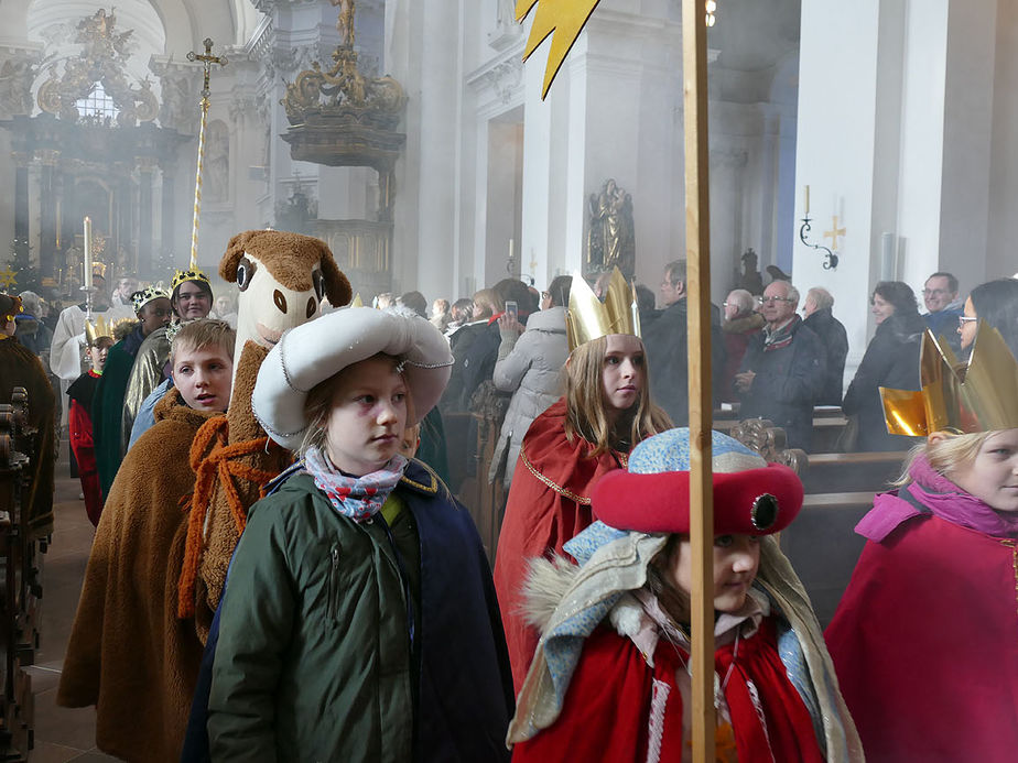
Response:
[[[96,445],[91,429],[91,401],[102,375],[106,356],[113,346],[113,338],[102,320],[97,327],[86,321],[85,337],[88,345],[88,359],[91,368],[78,377],[67,388],[71,410],[67,412],[71,430],[71,449],[78,464],[78,477],[82,480],[82,493],[85,495],[85,513],[94,527],[99,526],[102,513],[102,489],[99,487],[99,470],[96,466]]]

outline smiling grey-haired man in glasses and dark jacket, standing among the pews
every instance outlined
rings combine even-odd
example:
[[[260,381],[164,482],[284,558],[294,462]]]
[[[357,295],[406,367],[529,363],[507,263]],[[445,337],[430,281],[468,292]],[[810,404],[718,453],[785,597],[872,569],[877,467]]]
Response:
[[[768,418],[784,429],[789,447],[809,450],[813,405],[824,383],[825,356],[820,337],[795,315],[799,292],[788,281],[764,291],[767,324],[752,337],[735,374],[743,405],[739,418]]]

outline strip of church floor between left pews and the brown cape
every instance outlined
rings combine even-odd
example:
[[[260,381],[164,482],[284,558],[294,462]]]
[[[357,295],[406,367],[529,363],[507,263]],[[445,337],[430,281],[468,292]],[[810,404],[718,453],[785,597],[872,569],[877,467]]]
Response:
[[[35,698],[35,749],[29,756],[32,763],[117,760],[96,749],[95,708],[72,710],[56,706],[56,686],[95,535],[85,515],[85,502],[78,500],[80,482],[68,473],[65,439],[56,465],[53,544],[43,557],[40,645],[35,665],[26,668]]]

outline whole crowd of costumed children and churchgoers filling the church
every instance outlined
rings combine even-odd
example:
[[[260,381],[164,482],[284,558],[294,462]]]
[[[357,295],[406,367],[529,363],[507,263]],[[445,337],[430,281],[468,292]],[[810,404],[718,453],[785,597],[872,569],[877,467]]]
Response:
[[[617,271],[347,306],[327,248],[278,232],[236,237],[220,273],[247,297],[216,298],[197,270],[111,293],[98,273],[52,337],[35,295],[0,295],[0,400],[33,385],[35,497],[52,503],[62,407],[97,526],[58,701],[96,706],[98,746],[689,760],[685,263],[665,266],[660,308]],[[776,539],[802,483],[714,433],[718,760],[1011,760],[1018,280],[961,299],[934,273],[925,314],[907,284],[876,284],[847,391],[830,292],[800,314],[789,280],[759,286],[712,310],[716,405],[806,450],[814,407],[841,405],[857,448],[914,447],[856,528],[824,633]],[[912,404],[892,415],[888,389]],[[494,567],[446,442],[481,408],[501,418],[487,476],[508,489]]]

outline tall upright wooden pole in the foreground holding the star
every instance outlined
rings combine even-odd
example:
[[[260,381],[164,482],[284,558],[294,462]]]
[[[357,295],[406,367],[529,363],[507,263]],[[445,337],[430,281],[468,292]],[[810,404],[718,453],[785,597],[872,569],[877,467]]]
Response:
[[[685,249],[689,296],[693,761],[714,763],[714,493],[711,472],[711,215],[707,30],[703,0],[682,0]]]

